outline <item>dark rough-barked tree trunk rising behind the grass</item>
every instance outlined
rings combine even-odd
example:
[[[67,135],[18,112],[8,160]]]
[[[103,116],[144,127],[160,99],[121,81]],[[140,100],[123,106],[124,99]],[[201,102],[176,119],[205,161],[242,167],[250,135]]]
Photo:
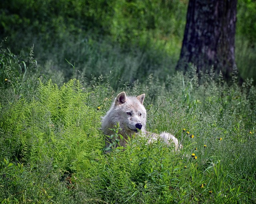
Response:
[[[211,69],[230,78],[235,63],[237,0],[190,0],[180,59],[176,70]]]

